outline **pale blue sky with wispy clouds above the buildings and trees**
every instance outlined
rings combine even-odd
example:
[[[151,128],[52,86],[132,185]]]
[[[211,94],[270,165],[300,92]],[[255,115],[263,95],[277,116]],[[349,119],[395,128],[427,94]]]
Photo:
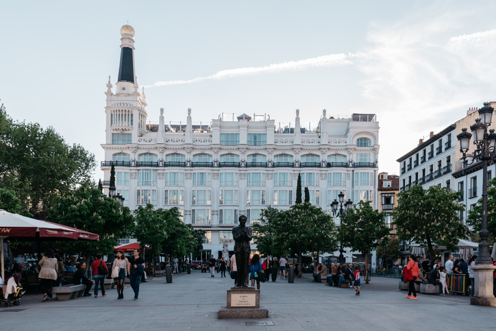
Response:
[[[221,113],[317,123],[377,114],[380,171],[470,107],[496,101],[496,1],[8,1],[0,99],[102,161],[120,29],[136,31],[148,120]],[[95,179],[103,177],[96,169]]]

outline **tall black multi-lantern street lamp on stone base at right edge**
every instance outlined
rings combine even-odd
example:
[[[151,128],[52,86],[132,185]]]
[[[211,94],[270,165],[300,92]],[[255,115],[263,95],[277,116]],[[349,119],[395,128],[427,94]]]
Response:
[[[484,102],[484,107],[480,108],[480,119],[475,120],[475,124],[471,125],[471,134],[467,132],[467,128],[463,128],[462,132],[456,136],[460,142],[460,151],[462,152],[462,161],[465,163],[467,159],[467,151],[469,151],[470,139],[473,137],[473,144],[476,149],[473,152],[472,160],[469,164],[477,161],[482,161],[482,222],[480,235],[480,244],[475,266],[471,270],[475,273],[475,295],[470,298],[470,304],[478,306],[496,306],[496,298],[493,295],[493,260],[491,252],[489,252],[489,244],[487,238],[489,232],[487,230],[487,167],[496,162],[496,134],[495,130],[489,130],[491,125],[494,108],[490,103]]]

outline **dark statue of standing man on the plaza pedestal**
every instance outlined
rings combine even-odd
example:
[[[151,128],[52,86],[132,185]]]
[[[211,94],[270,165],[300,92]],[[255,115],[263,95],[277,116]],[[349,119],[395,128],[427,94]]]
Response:
[[[246,226],[247,217],[239,217],[239,225],[232,228],[232,238],[234,239],[234,254],[236,255],[236,267],[238,268],[238,280],[236,286],[248,287],[248,263],[251,253],[251,228]]]

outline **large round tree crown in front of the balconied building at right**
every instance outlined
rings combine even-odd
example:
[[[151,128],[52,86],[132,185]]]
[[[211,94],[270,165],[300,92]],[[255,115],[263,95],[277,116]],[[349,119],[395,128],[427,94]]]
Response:
[[[470,233],[458,217],[464,210],[455,202],[459,197],[458,192],[438,186],[424,190],[415,185],[400,192],[392,214],[399,240],[427,245],[431,258],[436,256],[436,246],[455,250],[458,239],[467,238]]]

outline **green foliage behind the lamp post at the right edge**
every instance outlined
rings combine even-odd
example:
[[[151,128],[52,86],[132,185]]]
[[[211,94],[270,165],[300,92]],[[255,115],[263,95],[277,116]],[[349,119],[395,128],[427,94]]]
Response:
[[[480,231],[482,224],[482,198],[469,211],[467,223],[473,226],[474,231]],[[496,237],[496,177],[487,183],[487,230],[491,238]]]

